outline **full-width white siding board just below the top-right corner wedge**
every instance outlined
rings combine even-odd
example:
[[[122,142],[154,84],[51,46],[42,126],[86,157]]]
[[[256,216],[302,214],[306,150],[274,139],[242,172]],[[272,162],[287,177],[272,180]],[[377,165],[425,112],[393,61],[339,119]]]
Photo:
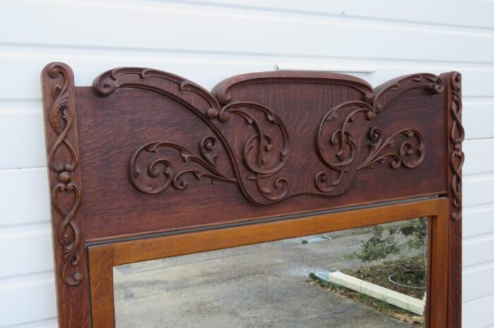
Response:
[[[492,32],[179,4],[8,1],[4,8],[0,12],[0,27],[8,30],[0,38],[4,44],[101,49],[128,49],[132,44],[154,51],[348,58],[361,57],[365,49],[369,58],[494,63]],[[420,40],[420,46],[407,40]]]

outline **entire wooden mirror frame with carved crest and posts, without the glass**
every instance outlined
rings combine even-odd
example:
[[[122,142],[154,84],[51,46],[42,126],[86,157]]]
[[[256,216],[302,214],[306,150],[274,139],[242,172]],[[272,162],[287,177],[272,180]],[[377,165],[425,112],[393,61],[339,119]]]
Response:
[[[124,263],[430,217],[428,327],[461,327],[461,75],[277,71],[208,92],[42,71],[59,327],[115,325]]]

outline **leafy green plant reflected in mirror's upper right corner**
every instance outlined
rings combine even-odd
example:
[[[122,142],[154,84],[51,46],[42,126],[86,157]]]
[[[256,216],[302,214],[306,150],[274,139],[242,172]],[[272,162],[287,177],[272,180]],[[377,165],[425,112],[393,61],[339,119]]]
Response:
[[[414,219],[406,222],[407,225],[399,227],[383,227],[374,225],[371,227],[373,236],[367,241],[362,241],[359,251],[344,255],[348,260],[359,258],[363,262],[381,260],[391,254],[399,254],[403,248],[425,249],[427,239],[427,220]],[[387,232],[387,234],[385,234]],[[395,236],[401,234],[408,237],[406,243],[398,244]]]

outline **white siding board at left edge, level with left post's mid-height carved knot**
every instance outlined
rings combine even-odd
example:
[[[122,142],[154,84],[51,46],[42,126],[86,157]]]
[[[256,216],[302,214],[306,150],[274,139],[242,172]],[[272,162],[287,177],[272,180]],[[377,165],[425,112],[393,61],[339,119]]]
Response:
[[[50,222],[46,168],[0,170],[2,226]]]

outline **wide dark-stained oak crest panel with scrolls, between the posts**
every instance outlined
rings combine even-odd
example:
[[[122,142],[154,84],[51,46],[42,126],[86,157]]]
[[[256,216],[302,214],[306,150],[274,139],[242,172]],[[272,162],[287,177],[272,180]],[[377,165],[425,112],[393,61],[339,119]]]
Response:
[[[215,103],[181,89],[188,82],[143,74],[102,75],[96,86],[121,85],[107,96],[77,88],[88,240],[447,192],[446,97],[433,75],[373,94],[347,75],[255,73],[207,93],[228,101]]]

